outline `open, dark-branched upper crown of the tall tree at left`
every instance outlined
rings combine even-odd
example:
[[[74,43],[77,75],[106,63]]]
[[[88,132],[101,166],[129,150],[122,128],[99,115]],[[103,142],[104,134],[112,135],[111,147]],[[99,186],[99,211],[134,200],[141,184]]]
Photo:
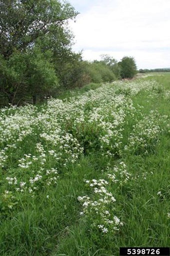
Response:
[[[0,13],[0,54],[5,59],[14,49],[30,49],[44,37],[57,45],[58,30],[64,33],[65,21],[77,14],[69,4],[57,0],[1,0]]]

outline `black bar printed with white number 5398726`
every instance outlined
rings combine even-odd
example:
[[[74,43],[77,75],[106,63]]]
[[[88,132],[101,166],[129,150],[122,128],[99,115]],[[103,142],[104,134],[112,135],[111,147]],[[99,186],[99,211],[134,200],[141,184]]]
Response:
[[[120,247],[120,256],[169,256],[169,247]]]

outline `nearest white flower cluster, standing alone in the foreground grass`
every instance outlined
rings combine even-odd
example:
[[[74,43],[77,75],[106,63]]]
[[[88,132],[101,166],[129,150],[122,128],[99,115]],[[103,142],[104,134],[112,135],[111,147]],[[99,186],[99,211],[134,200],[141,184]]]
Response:
[[[109,182],[104,179],[86,180],[85,183],[93,188],[93,194],[78,196],[82,203],[80,215],[90,221],[91,227],[98,228],[102,233],[115,232],[123,223],[113,214],[116,201],[111,192],[107,190]]]

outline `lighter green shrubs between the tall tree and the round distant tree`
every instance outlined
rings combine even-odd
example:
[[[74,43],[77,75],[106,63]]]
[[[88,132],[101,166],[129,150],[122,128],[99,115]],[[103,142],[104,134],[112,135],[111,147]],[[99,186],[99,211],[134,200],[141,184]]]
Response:
[[[82,61],[81,54],[70,54],[65,63],[56,62],[60,84],[65,88],[83,87],[89,83],[110,82],[117,79],[115,65],[108,66],[103,61],[89,63]],[[117,64],[116,64],[117,65]]]

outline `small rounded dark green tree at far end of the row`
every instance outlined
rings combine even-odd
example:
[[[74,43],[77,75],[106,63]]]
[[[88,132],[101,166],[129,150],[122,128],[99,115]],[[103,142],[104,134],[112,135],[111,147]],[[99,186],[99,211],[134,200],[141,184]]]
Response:
[[[121,69],[121,78],[133,78],[134,75],[137,73],[135,60],[132,57],[123,57],[118,65]]]

